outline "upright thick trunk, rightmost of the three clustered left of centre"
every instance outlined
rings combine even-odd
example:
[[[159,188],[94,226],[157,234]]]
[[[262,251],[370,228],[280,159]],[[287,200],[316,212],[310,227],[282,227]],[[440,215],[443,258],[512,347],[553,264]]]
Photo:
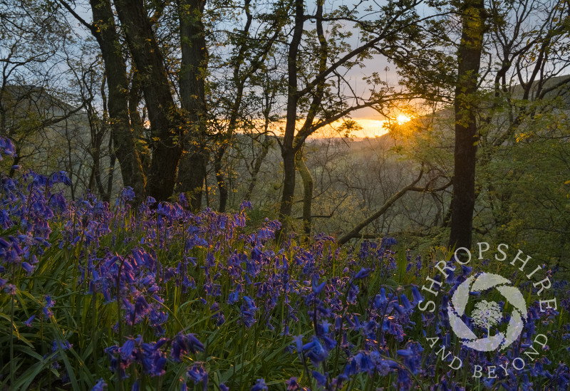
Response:
[[[207,66],[206,38],[202,13],[205,1],[178,0],[180,16],[180,101],[185,115],[185,155],[178,170],[180,191],[186,192],[192,210],[202,206],[202,188],[208,155],[205,146],[206,99],[204,69]]]

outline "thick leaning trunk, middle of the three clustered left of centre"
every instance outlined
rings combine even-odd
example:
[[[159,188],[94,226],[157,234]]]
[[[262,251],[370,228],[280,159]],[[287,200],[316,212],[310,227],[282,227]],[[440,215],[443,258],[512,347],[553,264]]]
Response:
[[[115,8],[142,80],[150,120],[152,160],[147,195],[165,201],[174,191],[185,126],[172,98],[162,53],[143,2],[115,0]]]

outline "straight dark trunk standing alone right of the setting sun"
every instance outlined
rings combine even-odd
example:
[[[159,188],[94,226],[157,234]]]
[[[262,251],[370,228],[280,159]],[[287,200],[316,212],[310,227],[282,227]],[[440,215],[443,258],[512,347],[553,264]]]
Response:
[[[462,6],[462,34],[457,51],[455,87],[455,172],[449,246],[470,249],[475,208],[475,155],[479,138],[475,93],[481,63],[485,10],[482,0],[466,0]]]

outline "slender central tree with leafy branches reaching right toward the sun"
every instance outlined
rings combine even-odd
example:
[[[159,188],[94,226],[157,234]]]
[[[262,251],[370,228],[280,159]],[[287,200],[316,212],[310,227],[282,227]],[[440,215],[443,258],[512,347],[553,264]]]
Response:
[[[388,1],[385,5],[374,10],[376,18],[358,19],[358,5],[353,9],[346,6],[325,14],[323,2],[317,1],[314,15],[306,14],[304,1],[294,2],[294,19],[291,22],[291,38],[287,51],[286,80],[288,92],[286,96],[286,124],[284,137],[279,143],[284,167],[284,185],[279,208],[279,216],[286,229],[291,216],[291,208],[295,192],[295,156],[301,150],[307,137],[321,127],[336,120],[345,118],[355,110],[366,107],[376,107],[381,110],[391,100],[401,99],[405,94],[399,94],[389,88],[378,74],[367,79],[371,84],[371,95],[362,98],[347,84],[346,72],[361,64],[363,58],[372,53],[383,56],[395,56],[395,52],[405,47],[406,42],[419,39],[421,36],[420,17],[415,7],[420,1]],[[305,38],[309,43],[306,47],[311,51],[301,51],[304,41],[306,21],[314,21],[314,33]],[[335,23],[353,24],[362,33],[361,42],[354,48],[344,41],[343,29]],[[330,23],[326,36],[325,22]],[[346,26],[345,26],[346,28]],[[314,44],[311,44],[311,38]],[[401,56],[404,56],[400,53]],[[316,58],[314,68],[302,61],[304,56]],[[302,83],[302,84],[301,84]],[[350,91],[344,95],[341,91]],[[298,127],[299,115],[304,119]]]

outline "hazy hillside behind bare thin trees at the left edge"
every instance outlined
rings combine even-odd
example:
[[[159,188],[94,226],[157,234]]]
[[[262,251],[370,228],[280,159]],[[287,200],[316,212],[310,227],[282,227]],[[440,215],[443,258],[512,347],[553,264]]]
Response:
[[[14,161],[2,164],[22,165],[41,174],[65,170],[73,183],[70,195],[81,194],[94,186],[95,145],[91,125],[86,110],[67,103],[46,88],[35,85],[0,88],[0,134],[11,138],[18,155]],[[100,141],[101,145],[108,145],[108,135]]]

